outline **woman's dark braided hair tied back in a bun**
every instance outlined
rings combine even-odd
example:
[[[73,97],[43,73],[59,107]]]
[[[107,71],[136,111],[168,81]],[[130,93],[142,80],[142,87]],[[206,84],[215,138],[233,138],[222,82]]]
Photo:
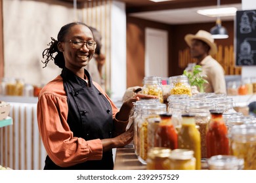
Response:
[[[58,67],[60,67],[61,69],[65,67],[65,60],[64,60],[63,53],[60,52],[60,50],[58,50],[58,42],[65,41],[64,37],[66,36],[70,28],[73,27],[74,25],[85,25],[86,27],[90,28],[89,26],[87,26],[82,22],[72,22],[70,24],[66,24],[63,27],[61,27],[60,31],[58,32],[58,40],[51,37],[52,41],[49,42],[49,44],[47,44],[50,47],[43,50],[43,58],[45,57],[46,58],[45,58],[45,61],[42,60],[41,62],[45,64],[44,67],[47,67],[47,64],[51,59],[54,60],[54,63],[58,65]]]

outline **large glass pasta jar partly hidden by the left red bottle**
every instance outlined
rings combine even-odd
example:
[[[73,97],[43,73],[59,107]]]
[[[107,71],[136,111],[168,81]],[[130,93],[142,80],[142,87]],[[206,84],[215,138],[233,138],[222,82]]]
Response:
[[[148,122],[150,118],[158,118],[159,114],[166,113],[166,105],[162,103],[156,103],[152,105],[146,105],[140,110],[139,123],[137,125],[137,141],[139,147],[138,159],[141,163],[146,164],[146,158],[148,153]]]

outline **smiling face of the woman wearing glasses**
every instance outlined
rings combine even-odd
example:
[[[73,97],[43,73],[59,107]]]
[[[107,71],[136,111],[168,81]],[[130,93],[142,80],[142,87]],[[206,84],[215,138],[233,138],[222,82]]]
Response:
[[[64,40],[94,41],[93,33],[85,25],[74,25],[71,27]],[[89,50],[86,44],[83,44],[81,48],[74,48],[72,42],[61,42],[61,46],[65,59],[65,67],[71,70],[81,69],[86,66],[95,53],[95,50]]]

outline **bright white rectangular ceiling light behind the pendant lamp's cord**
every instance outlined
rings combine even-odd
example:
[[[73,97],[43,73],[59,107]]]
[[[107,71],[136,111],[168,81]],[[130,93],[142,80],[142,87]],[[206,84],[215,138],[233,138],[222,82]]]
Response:
[[[217,16],[234,16],[236,15],[237,8],[235,7],[228,7],[228,8],[211,8],[211,9],[204,9],[204,10],[197,10],[198,14],[202,14],[205,16],[210,17],[217,17]]]

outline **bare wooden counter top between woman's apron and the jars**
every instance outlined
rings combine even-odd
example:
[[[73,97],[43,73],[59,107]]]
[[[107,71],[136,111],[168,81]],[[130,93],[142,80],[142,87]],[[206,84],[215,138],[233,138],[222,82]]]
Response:
[[[135,155],[133,144],[128,144],[123,148],[116,149],[116,159],[114,162],[114,170],[145,170],[143,165]]]

